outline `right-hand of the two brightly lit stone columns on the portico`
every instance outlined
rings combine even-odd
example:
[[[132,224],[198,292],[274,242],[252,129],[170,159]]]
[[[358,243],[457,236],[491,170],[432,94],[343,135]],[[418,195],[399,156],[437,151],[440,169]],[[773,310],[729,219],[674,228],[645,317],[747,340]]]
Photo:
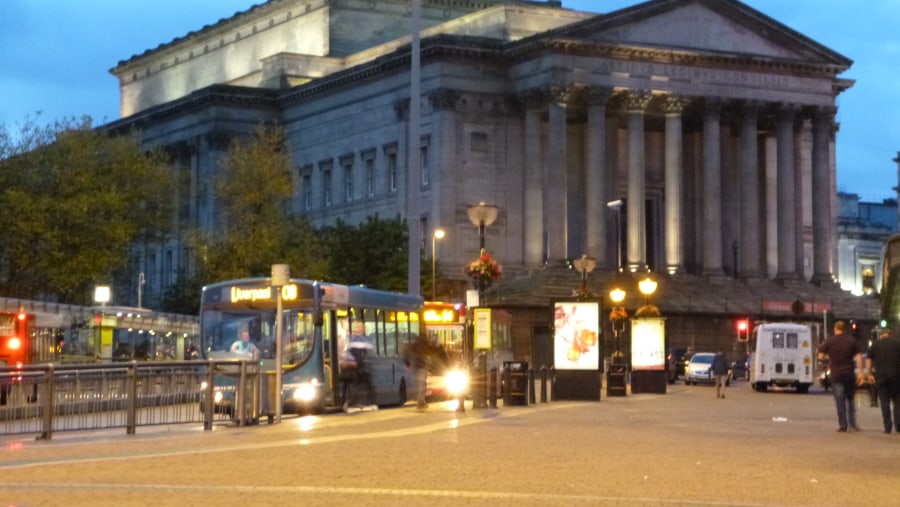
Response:
[[[663,100],[666,115],[666,155],[665,155],[665,241],[666,270],[677,273],[684,267],[684,251],[681,238],[683,207],[681,184],[684,178],[684,153],[682,136],[682,113],[688,100],[677,95],[669,95]]]

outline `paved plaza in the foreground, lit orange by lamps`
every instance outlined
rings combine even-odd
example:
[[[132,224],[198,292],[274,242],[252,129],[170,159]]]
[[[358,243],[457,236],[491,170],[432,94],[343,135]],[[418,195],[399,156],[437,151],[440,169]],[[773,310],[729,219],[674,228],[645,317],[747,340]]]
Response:
[[[465,413],[445,403],[2,438],[11,506],[895,506],[900,435],[860,393],[837,433],[830,393],[736,382]]]

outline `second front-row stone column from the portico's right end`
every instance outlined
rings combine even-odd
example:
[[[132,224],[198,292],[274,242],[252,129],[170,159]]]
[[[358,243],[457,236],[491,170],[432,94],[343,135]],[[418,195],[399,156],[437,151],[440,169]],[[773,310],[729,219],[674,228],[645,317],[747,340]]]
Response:
[[[782,104],[778,110],[776,125],[777,187],[778,187],[778,274],[779,279],[797,278],[797,231],[794,191],[796,177],[794,167],[794,116],[796,109]]]

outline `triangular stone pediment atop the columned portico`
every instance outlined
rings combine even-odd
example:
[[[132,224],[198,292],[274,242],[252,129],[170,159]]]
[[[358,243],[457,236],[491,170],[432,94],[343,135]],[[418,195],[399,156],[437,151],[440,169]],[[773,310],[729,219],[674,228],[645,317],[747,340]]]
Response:
[[[559,30],[600,44],[849,66],[846,57],[736,0],[655,0]]]

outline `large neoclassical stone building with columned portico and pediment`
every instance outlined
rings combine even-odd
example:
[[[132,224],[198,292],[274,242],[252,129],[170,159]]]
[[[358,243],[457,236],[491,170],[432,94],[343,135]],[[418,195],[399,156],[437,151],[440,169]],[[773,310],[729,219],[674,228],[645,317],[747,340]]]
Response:
[[[874,320],[877,304],[834,283],[847,57],[737,0],[421,4],[417,108],[408,0],[270,0],[120,62],[109,128],[170,151],[179,224],[213,233],[234,233],[217,216],[217,160],[261,120],[289,134],[294,213],[399,213],[426,255],[441,227],[446,277],[478,254],[467,208],[498,206],[486,244],[507,275],[487,301],[517,315],[522,356],[540,355],[582,255],[598,261],[598,294],[628,273],[658,278],[671,343],[712,346],[734,318],[793,316],[795,301],[808,318]],[[149,296],[190,252],[176,235],[138,258]]]

